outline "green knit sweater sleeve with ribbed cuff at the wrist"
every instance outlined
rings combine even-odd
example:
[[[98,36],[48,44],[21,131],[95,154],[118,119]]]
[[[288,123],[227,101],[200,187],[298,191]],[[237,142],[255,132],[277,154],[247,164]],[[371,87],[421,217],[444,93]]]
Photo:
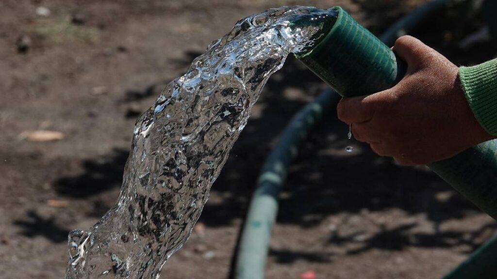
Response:
[[[459,79],[476,119],[497,136],[497,59],[459,68]]]

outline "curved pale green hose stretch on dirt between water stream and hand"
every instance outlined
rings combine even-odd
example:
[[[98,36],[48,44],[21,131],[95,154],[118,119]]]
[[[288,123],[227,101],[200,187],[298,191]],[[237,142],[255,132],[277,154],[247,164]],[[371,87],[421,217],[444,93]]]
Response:
[[[278,196],[286,171],[297,156],[298,147],[307,138],[323,113],[336,106],[340,96],[327,89],[299,111],[285,127],[266,159],[253,194],[236,262],[235,278],[264,278],[271,228],[278,212]]]

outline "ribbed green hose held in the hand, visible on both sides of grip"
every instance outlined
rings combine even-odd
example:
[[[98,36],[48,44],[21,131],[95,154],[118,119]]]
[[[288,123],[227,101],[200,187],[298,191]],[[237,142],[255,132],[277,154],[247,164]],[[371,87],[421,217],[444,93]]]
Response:
[[[329,34],[298,58],[340,95],[369,95],[393,87],[405,63],[347,12]],[[497,219],[497,140],[484,142],[428,167],[478,208]]]

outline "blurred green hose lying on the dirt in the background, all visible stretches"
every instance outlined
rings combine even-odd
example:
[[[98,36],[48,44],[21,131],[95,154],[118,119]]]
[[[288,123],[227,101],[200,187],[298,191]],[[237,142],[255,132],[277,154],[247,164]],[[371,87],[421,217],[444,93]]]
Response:
[[[417,8],[387,29],[380,37],[381,41],[393,45],[398,37],[411,32],[424,20],[441,12],[449,2],[451,0],[434,0]],[[297,155],[298,147],[315,127],[315,123],[321,119],[324,112],[334,109],[333,104],[338,99],[339,95],[328,89],[306,105],[289,122],[266,159],[241,235],[235,267],[236,279],[264,278],[271,229],[276,220],[278,196],[287,169]],[[493,278],[492,276],[497,274],[497,265],[491,255],[495,255],[496,251],[497,237],[494,237],[443,279]]]

